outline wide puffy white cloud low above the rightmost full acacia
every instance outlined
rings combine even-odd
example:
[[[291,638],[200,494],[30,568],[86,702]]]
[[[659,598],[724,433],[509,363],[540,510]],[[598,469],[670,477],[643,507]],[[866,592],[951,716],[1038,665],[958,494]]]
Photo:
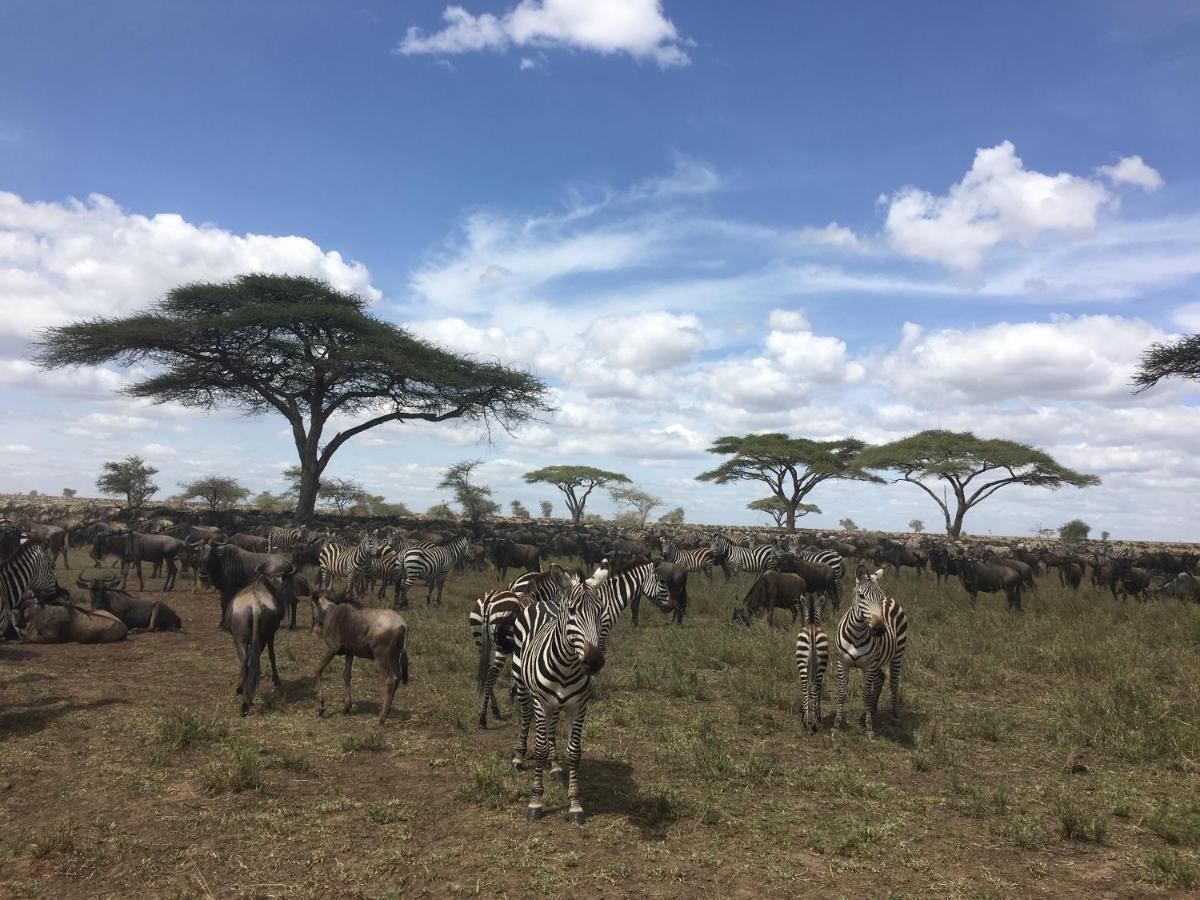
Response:
[[[929,332],[907,323],[899,348],[876,368],[892,390],[932,404],[1018,397],[1128,401],[1141,350],[1166,337],[1141,319],[1120,316]]]

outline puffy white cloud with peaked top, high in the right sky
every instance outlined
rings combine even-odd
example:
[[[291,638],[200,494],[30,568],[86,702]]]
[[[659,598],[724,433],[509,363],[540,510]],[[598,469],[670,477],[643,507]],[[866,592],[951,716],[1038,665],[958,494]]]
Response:
[[[974,269],[1004,241],[1030,244],[1044,232],[1091,233],[1110,199],[1090,179],[1026,169],[1006,140],[976,150],[971,170],[944,197],[916,187],[894,193],[886,228],[906,256]]]

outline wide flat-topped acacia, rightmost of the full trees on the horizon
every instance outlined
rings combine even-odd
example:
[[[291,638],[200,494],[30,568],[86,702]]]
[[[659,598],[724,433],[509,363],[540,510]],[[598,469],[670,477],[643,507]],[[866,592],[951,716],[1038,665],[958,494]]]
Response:
[[[1008,485],[1054,491],[1063,485],[1100,484],[1096,475],[1069,469],[1028,444],[977,438],[967,431],[923,431],[871,448],[859,463],[877,472],[896,472],[894,482],[908,481],[928,493],[942,510],[946,533],[952,538],[962,534],[962,520],[971,509]],[[943,496],[938,497],[928,481],[944,482]],[[953,494],[953,512],[946,490]]]

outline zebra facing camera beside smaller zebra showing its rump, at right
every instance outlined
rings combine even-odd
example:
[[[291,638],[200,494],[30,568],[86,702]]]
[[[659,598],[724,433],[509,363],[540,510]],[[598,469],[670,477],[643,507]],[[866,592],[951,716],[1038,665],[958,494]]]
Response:
[[[883,593],[878,577],[883,570],[869,575],[858,568],[854,602],[838,623],[838,716],[834,731],[845,718],[846,695],[850,690],[850,670],[863,670],[863,724],[866,737],[874,739],[871,720],[878,709],[883,690],[884,668],[892,684],[892,715],[900,710],[900,664],[904,660],[908,620],[904,610]]]

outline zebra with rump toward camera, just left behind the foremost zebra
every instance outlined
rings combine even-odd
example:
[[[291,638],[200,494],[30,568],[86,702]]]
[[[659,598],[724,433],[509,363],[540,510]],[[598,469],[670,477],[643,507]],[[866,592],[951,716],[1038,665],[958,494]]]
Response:
[[[578,583],[577,576],[553,565],[545,572],[526,572],[505,589],[488,590],[472,605],[467,625],[479,653],[476,683],[484,696],[479,710],[480,728],[487,727],[488,703],[492,706],[492,715],[500,718],[500,707],[496,702],[496,679],[512,653],[512,624],[517,616],[530,604],[557,604],[566,590]]]

